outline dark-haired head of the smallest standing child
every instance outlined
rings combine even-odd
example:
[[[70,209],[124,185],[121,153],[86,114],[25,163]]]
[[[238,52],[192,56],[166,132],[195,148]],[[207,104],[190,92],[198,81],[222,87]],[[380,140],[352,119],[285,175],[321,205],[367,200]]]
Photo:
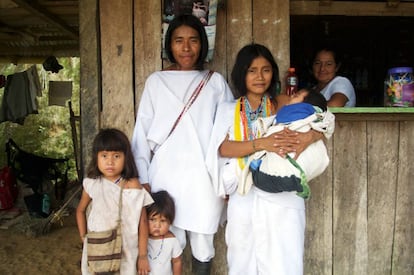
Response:
[[[147,206],[149,234],[154,237],[168,233],[175,218],[174,200],[167,191],[151,194],[154,203]]]

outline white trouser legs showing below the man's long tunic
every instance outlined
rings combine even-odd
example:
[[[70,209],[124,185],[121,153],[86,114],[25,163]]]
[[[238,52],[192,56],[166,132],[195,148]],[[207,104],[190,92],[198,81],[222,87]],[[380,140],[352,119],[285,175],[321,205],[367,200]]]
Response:
[[[187,244],[187,236],[190,241],[191,254],[200,262],[209,262],[214,258],[214,234],[202,234],[170,226],[170,230],[180,242],[184,250]]]

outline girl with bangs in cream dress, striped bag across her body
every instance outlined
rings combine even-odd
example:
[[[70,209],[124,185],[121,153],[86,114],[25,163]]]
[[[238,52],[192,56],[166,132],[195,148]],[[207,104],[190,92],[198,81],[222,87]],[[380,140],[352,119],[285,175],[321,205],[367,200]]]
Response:
[[[88,270],[87,232],[116,226],[122,190],[122,259],[120,274],[144,274],[150,266],[147,255],[148,223],[145,206],[153,202],[138,181],[138,172],[128,137],[117,129],[102,129],[92,145],[92,160],[76,209],[76,221],[83,242],[81,270]],[[86,209],[91,204],[90,212]],[[139,256],[140,255],[140,256]],[[144,256],[145,255],[145,256]]]

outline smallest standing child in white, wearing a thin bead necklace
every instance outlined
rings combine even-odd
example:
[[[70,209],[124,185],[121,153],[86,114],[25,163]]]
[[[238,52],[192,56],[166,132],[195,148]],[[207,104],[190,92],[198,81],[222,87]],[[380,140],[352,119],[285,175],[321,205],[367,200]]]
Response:
[[[147,206],[148,259],[154,275],[181,275],[183,252],[174,234],[169,231],[175,217],[173,198],[167,191],[152,194],[154,203]]]

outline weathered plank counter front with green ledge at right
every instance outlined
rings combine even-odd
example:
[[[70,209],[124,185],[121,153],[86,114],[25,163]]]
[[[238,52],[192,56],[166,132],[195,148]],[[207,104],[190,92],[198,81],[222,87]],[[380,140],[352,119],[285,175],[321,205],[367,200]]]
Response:
[[[414,108],[332,108],[310,183],[305,274],[414,274]]]

